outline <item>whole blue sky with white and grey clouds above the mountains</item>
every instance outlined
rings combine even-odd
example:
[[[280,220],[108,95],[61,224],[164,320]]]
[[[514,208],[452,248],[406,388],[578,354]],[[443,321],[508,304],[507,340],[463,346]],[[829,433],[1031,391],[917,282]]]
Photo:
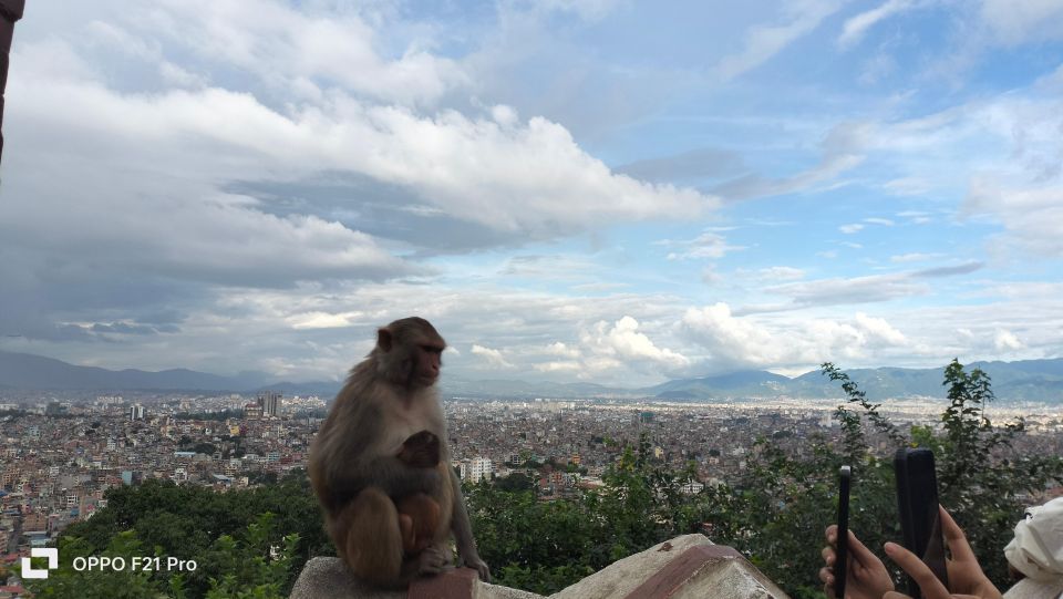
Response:
[[[28,3],[0,350],[648,385],[1063,357],[1063,0]]]

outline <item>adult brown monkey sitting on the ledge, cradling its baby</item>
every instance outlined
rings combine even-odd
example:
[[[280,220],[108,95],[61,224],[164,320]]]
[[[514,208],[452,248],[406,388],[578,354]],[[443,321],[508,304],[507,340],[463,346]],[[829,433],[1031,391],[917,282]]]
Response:
[[[434,389],[446,342],[423,318],[376,331],[310,446],[310,482],[337,552],[380,587],[462,562],[489,580],[476,550]]]

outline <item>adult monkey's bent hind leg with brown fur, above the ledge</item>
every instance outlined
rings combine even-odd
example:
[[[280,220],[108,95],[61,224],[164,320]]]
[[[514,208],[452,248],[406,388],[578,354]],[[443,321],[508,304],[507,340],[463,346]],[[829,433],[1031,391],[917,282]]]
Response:
[[[382,490],[362,490],[337,515],[333,530],[340,557],[357,577],[378,587],[402,585],[399,513]]]

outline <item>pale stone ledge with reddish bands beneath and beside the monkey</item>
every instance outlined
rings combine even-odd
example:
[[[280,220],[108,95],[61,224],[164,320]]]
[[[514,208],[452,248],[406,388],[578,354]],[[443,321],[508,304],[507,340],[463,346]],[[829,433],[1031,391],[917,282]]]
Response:
[[[414,581],[406,591],[381,591],[355,580],[337,558],[307,562],[290,599],[544,599],[481,582],[460,568]],[[788,599],[741,554],[703,535],[684,535],[628,556],[549,599]]]

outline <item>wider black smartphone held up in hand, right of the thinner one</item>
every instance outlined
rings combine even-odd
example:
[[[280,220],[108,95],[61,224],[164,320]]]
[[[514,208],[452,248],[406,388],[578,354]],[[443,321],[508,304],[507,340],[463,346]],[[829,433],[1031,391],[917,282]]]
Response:
[[[919,556],[938,580],[949,588],[945,538],[938,505],[938,477],[930,450],[902,447],[894,456],[897,474],[897,512],[905,547]],[[908,577],[908,595],[919,598],[919,585]]]

